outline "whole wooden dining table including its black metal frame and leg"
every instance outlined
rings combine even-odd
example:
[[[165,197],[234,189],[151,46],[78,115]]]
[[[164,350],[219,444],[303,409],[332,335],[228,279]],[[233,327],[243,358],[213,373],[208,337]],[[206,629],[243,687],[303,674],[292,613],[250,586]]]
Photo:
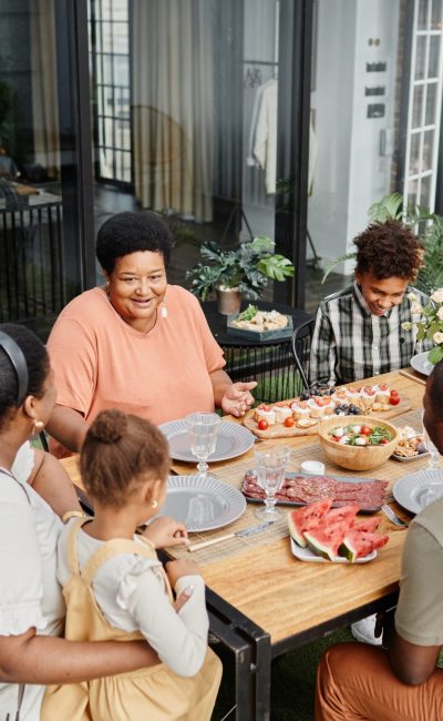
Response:
[[[410,425],[420,431],[423,377],[412,369],[406,373],[408,376],[393,372],[368,378],[364,385],[388,383],[395,388],[409,409],[390,419],[390,423]],[[328,463],[317,435],[260,440],[259,447],[265,449],[276,444],[291,449],[289,470],[300,470],[303,460],[320,460],[329,475],[353,478],[371,476],[388,480],[389,489],[398,478],[421,470],[426,464],[425,458],[409,464],[390,458],[371,471],[347,471]],[[75,458],[63,463],[79,485]],[[248,468],[254,468],[254,448],[238,458],[210,464],[215,478],[236,488],[240,487]],[[174,461],[173,471],[179,476],[192,475],[195,474],[195,465]],[[411,514],[396,506],[390,491],[388,500],[401,517],[406,520],[412,518]],[[228,530],[236,531],[259,524],[255,518],[256,508],[257,505],[248,504],[245,514]],[[288,511],[285,506],[280,508],[285,514]],[[405,531],[393,526],[381,511],[379,516],[380,530],[389,534],[390,539],[378,551],[377,558],[368,563],[298,560],[291,552],[286,518],[264,532],[246,538],[236,537],[192,555],[202,566],[212,631],[235,654],[237,721],[269,719],[274,658],[396,603]],[[224,534],[226,528],[192,534],[192,542]],[[182,548],[166,550],[172,558],[188,554]]]

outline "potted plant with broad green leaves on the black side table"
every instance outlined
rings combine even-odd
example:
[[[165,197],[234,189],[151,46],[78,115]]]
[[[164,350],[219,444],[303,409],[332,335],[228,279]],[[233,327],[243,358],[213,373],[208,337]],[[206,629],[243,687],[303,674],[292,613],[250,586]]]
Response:
[[[268,280],[285,281],[293,275],[292,263],[274,253],[275,242],[266,235],[240,243],[230,251],[220,248],[214,241],[202,244],[205,262],[197,263],[186,277],[193,278],[190,291],[202,301],[216,291],[219,313],[238,313],[241,296],[250,299],[261,297]]]

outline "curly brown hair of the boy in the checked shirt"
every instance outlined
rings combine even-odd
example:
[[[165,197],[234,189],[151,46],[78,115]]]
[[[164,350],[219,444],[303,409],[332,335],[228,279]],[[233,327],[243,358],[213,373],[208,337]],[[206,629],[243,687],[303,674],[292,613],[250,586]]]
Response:
[[[354,238],[358,273],[372,273],[379,281],[396,276],[415,281],[423,263],[423,245],[400,221],[371,223]]]

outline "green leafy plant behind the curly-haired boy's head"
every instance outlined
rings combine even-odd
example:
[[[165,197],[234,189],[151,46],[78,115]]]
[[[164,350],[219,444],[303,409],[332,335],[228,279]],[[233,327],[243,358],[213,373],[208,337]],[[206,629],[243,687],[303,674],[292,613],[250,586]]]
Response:
[[[414,283],[415,287],[430,295],[443,286],[443,217],[441,215],[431,213],[427,207],[420,205],[404,209],[401,193],[391,193],[373,203],[368,215],[371,223],[384,223],[392,219],[412,227],[424,246],[424,267],[420,270]],[[356,255],[357,252],[347,253],[332,261],[324,271],[322,282],[339,263],[354,260]]]

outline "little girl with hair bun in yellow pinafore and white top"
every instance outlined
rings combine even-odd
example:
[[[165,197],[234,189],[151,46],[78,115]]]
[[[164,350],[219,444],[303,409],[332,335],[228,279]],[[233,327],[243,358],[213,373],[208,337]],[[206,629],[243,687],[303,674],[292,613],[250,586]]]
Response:
[[[66,637],[125,638],[138,631],[162,661],[144,677],[132,674],[132,687],[127,677],[91,682],[89,708],[83,694],[87,718],[119,721],[119,709],[124,708],[125,718],[133,721],[210,719],[222,671],[207,646],[205,586],[198,567],[181,559],[169,561],[165,573],[155,554],[165,519],[155,521],[148,541],[136,535],[164,502],[169,464],[167,441],[158,428],[117,409],[96,416],[82,446],[80,469],[94,518],[72,519],[59,540]],[[176,593],[188,589],[189,599],[179,613],[171,587]],[[59,718],[60,709],[66,708],[74,713],[81,699],[79,689],[52,689],[42,718]]]

